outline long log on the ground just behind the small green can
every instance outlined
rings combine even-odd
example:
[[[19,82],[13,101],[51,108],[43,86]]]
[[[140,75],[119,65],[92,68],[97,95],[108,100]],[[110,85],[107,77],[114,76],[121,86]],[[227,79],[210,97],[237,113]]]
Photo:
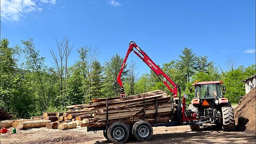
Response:
[[[17,125],[17,129],[28,129],[34,127],[43,127],[46,126],[48,123],[51,123],[50,120],[38,120],[38,121],[25,121],[19,122]]]

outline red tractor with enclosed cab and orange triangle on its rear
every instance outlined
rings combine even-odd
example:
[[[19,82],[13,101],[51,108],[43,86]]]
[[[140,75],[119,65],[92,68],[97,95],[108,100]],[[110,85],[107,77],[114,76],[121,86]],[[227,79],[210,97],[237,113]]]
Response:
[[[202,124],[216,124],[224,131],[234,130],[235,119],[231,103],[223,97],[226,87],[222,81],[196,82],[195,98],[191,100],[189,109],[196,113],[197,121],[190,125],[193,131],[199,130]]]

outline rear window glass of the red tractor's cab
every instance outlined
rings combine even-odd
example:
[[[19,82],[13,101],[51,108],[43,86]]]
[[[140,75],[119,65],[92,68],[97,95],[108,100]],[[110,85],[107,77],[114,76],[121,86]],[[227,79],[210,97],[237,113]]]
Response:
[[[207,99],[207,98],[221,98],[222,93],[219,84],[203,84],[196,85],[195,98]]]

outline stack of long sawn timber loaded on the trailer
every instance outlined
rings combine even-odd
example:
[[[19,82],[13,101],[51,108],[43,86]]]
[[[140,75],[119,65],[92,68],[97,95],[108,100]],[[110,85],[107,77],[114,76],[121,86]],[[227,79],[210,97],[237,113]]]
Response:
[[[68,106],[67,108],[86,108],[87,114],[92,117],[85,118],[83,126],[101,127],[122,121],[131,124],[145,119],[149,123],[166,123],[171,119],[171,113],[175,109],[170,95],[161,90],[132,95],[126,98],[114,98],[111,100],[97,99],[93,103],[85,105]]]

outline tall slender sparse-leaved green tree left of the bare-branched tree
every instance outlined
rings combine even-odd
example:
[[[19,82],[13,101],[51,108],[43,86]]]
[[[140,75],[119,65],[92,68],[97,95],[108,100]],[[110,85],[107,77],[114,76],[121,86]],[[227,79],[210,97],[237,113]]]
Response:
[[[28,41],[21,41],[25,45],[24,51],[26,54],[26,65],[31,72],[27,74],[27,78],[31,80],[31,86],[35,90],[39,100],[39,107],[41,111],[46,110],[50,106],[52,91],[52,78],[49,77],[46,66],[44,65],[44,57],[40,57],[39,51],[35,49],[33,39]]]

